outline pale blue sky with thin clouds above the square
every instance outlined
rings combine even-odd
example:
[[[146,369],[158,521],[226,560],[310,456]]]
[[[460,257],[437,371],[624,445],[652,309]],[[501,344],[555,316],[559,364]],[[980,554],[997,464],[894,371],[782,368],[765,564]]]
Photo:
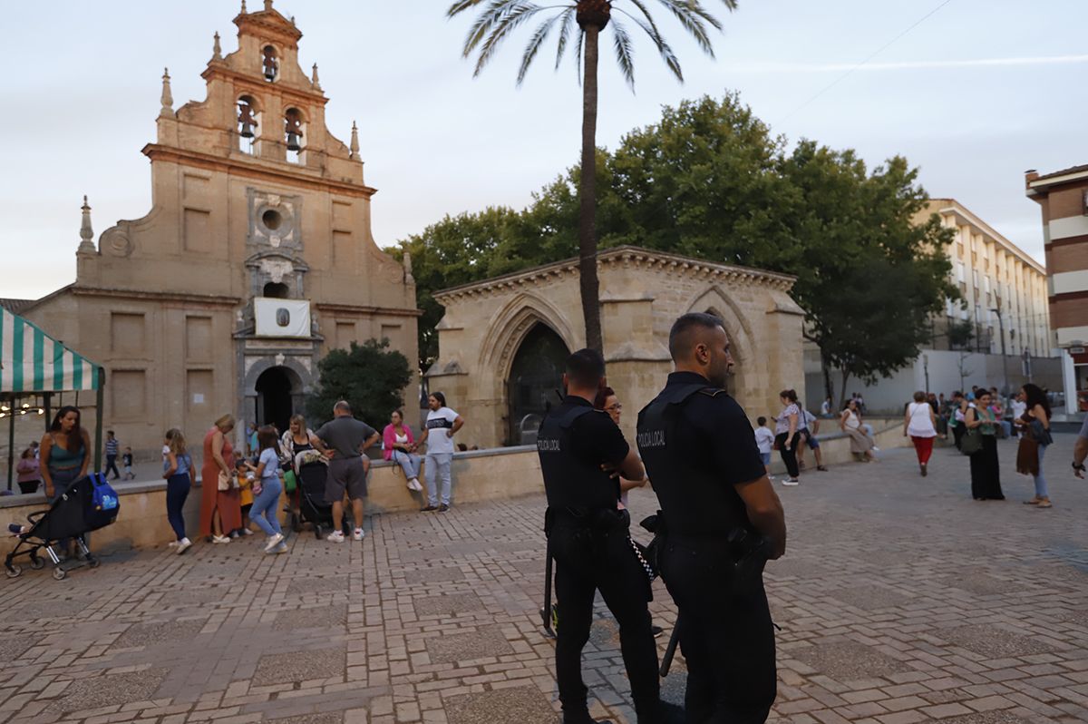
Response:
[[[870,167],[905,156],[931,196],[956,198],[1042,261],[1024,171],[1088,162],[1088,2],[740,0],[733,13],[703,2],[724,23],[715,59],[650,3],[680,58],[682,85],[642,37],[632,94],[603,45],[598,145],[615,148],[664,105],[735,90],[791,145],[854,148]],[[250,0],[250,10],[260,4]],[[522,208],[579,158],[571,58],[556,72],[548,45],[518,88],[528,26],[473,78],[461,58],[470,17],[447,20],[448,4],[275,2],[304,33],[302,66],[319,64],[330,130],[347,142],[359,124],[382,246],[446,214]],[[0,296],[35,298],[75,279],[84,194],[96,241],[119,219],[150,210],[149,161],[139,151],[154,140],[163,68],[174,108],[202,100],[212,34],[223,36],[224,54],[236,49],[239,3],[2,7],[10,68],[0,73]]]

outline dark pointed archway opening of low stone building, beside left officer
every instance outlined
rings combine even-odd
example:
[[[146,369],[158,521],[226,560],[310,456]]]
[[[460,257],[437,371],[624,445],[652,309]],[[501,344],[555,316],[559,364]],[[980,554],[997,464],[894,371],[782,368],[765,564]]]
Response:
[[[559,402],[556,390],[562,386],[562,369],[569,355],[562,339],[542,322],[521,341],[507,382],[510,444],[535,444],[541,420]]]

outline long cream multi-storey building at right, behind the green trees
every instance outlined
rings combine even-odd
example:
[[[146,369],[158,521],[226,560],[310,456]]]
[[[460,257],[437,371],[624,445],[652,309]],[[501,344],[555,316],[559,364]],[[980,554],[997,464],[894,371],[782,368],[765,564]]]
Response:
[[[1046,268],[955,199],[930,199],[919,220],[931,213],[955,230],[951,281],[963,296],[934,320],[934,348],[1001,354],[1003,333],[1005,354],[1049,357]]]

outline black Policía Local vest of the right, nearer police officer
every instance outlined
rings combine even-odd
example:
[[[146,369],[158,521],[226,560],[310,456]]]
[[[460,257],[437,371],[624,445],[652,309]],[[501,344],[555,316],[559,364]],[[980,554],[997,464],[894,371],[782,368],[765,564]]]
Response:
[[[695,394],[725,394],[703,383],[666,388],[639,413],[639,453],[657,493],[669,533],[693,537],[728,536],[735,528],[752,529],[744,502],[731,484],[715,475],[712,465],[697,465],[707,450],[676,442],[684,405]]]

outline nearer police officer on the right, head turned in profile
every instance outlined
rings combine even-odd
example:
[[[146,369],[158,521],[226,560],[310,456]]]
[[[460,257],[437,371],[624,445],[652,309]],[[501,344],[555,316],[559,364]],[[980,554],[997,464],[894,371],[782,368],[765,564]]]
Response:
[[[758,724],[776,696],[763,566],[786,551],[782,505],[722,389],[732,358],[721,320],[680,317],[669,352],[676,371],[639,414],[638,442],[664,517],[658,565],[679,608],[688,721]]]

